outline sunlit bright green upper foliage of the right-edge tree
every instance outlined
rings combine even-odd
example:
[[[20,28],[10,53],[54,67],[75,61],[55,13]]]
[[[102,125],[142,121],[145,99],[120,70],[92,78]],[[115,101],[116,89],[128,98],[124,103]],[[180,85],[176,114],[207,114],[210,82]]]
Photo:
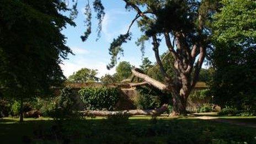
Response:
[[[220,13],[215,15],[214,40],[223,44],[253,47],[256,37],[256,2],[223,0]],[[228,47],[226,47],[228,48]]]

